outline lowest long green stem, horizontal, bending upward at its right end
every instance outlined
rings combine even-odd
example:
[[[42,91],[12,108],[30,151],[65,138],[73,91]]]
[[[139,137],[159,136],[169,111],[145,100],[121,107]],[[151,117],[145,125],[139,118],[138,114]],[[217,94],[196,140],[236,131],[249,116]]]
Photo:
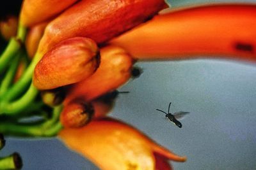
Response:
[[[55,136],[62,128],[62,125],[59,122],[61,110],[62,106],[56,106],[52,112],[52,118],[40,124],[13,124],[12,122],[1,122],[0,132],[14,136]]]

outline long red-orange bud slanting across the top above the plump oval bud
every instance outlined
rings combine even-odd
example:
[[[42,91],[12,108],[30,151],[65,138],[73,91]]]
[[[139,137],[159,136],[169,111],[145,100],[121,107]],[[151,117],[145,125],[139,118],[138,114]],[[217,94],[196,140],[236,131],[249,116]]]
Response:
[[[104,43],[145,22],[164,7],[164,0],[79,1],[47,25],[38,52],[44,55],[56,43],[74,36]]]

